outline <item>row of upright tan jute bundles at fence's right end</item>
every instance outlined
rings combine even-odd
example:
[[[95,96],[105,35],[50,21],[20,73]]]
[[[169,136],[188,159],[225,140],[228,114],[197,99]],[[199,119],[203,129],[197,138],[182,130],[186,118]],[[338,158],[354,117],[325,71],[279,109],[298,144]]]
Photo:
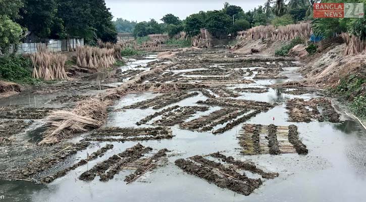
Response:
[[[110,68],[116,63],[115,49],[91,46],[76,47],[76,64],[86,68]],[[119,52],[121,56],[121,52]]]

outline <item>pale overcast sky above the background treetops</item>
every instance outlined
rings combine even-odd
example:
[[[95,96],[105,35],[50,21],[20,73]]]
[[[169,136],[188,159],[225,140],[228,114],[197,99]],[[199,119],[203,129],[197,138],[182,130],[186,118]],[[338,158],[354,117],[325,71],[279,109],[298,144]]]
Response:
[[[77,0],[75,0],[77,1]],[[123,18],[137,22],[149,21],[151,18],[158,22],[168,13],[184,20],[187,16],[199,11],[220,10],[224,3],[240,6],[244,11],[264,5],[265,0],[106,0],[108,8],[111,8],[114,19]]]

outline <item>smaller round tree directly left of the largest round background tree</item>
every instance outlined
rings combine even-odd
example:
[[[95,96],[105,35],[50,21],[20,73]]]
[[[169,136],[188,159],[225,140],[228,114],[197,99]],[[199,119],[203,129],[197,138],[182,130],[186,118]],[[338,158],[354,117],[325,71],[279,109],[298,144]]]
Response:
[[[187,32],[187,34],[190,36],[199,34],[200,28],[205,27],[205,17],[206,14],[204,12],[188,16],[184,21],[184,30]]]

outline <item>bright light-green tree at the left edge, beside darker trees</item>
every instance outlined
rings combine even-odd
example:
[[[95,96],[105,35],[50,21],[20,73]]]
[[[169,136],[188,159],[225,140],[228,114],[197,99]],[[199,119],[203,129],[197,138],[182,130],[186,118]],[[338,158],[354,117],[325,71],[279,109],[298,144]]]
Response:
[[[0,16],[0,55],[8,53],[11,45],[17,45],[22,39],[23,30],[8,16]]]

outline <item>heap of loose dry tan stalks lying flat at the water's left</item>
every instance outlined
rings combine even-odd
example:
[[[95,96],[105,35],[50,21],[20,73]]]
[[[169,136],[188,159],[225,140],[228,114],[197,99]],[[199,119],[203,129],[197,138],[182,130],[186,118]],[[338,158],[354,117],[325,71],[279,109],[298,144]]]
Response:
[[[50,127],[38,144],[55,144],[69,138],[72,133],[100,127],[107,119],[107,107],[110,104],[110,100],[92,98],[79,102],[71,112],[59,110],[51,113],[46,120]]]

